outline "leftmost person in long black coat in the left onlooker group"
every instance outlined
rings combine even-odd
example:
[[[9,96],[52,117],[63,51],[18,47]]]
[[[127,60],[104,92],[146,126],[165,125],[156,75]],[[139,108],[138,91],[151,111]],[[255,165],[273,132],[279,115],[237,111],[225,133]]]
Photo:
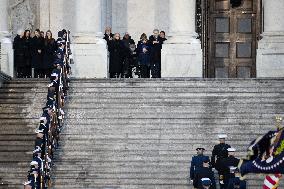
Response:
[[[25,41],[24,32],[19,30],[18,35],[14,38],[13,42],[14,49],[14,67],[18,78],[25,77]]]

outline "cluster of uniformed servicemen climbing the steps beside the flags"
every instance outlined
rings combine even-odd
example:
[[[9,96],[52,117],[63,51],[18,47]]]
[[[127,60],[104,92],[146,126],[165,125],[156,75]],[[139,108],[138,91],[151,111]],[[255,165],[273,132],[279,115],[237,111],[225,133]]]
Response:
[[[227,135],[219,135],[220,143],[212,151],[211,161],[203,153],[204,148],[197,148],[197,155],[192,158],[190,180],[196,189],[216,189],[214,171],[219,175],[220,189],[246,189],[246,181],[241,179],[238,170],[240,159],[235,157],[235,148],[225,143]]]

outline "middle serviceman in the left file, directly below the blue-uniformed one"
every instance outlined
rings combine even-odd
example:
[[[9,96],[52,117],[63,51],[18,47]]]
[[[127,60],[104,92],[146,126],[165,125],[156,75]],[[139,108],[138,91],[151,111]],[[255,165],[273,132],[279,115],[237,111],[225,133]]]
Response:
[[[211,185],[209,189],[216,189],[215,177],[214,172],[210,168],[210,159],[209,157],[205,157],[203,159],[202,167],[196,170],[193,179],[193,186],[197,189],[203,189],[202,179],[209,178],[211,180]]]

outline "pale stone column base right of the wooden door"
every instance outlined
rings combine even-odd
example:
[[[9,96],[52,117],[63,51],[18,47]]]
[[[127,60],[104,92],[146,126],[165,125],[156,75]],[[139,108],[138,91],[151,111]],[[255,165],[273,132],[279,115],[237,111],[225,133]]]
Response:
[[[284,33],[264,33],[258,43],[256,70],[258,78],[284,77]]]

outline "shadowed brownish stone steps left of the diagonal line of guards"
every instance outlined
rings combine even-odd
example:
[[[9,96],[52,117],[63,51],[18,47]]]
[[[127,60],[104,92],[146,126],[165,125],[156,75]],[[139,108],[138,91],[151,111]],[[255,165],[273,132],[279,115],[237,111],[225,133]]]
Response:
[[[22,189],[47,80],[13,80],[0,88],[0,188]]]

